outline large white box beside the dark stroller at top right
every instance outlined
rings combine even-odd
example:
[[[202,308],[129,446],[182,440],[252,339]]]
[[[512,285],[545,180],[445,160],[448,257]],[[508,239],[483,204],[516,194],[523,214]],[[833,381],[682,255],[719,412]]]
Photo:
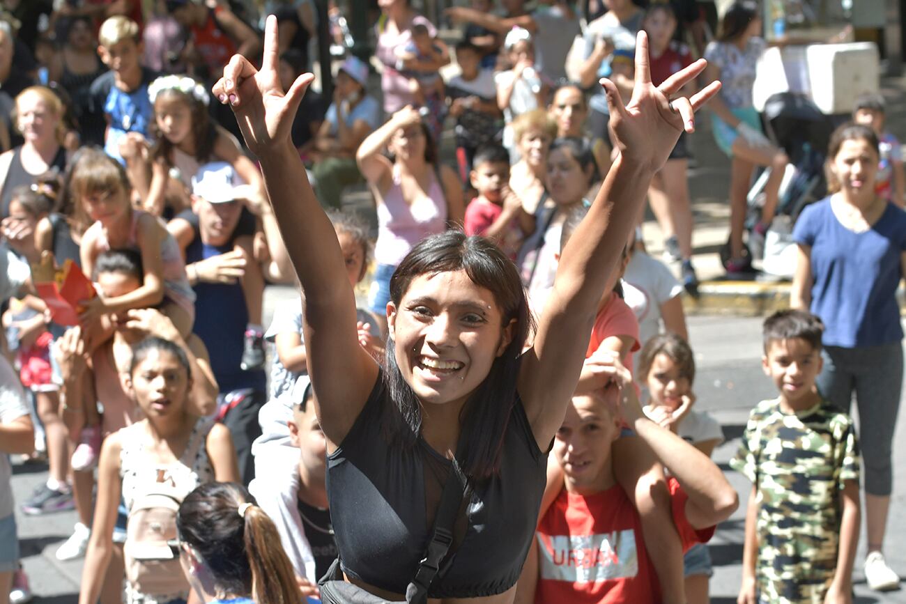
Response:
[[[850,113],[858,97],[878,91],[879,62],[872,42],[769,48],[758,62],[755,108],[762,111],[769,96],[791,91],[808,96],[826,115]]]

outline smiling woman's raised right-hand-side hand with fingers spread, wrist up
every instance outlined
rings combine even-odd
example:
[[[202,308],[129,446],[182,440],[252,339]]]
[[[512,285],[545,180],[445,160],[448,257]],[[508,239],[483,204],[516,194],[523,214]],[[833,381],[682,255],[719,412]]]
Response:
[[[611,112],[613,139],[623,158],[655,171],[664,165],[679,134],[695,129],[695,112],[720,90],[720,82],[712,81],[690,98],[672,96],[695,79],[707,64],[699,59],[655,86],[651,83],[648,35],[639,32],[635,45],[635,86],[629,103],[623,105],[612,81],[601,80]]]

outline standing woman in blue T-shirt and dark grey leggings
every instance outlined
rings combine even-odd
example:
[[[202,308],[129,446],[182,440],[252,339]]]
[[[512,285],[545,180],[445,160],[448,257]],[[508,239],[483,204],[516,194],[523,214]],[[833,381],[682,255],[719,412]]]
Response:
[[[881,550],[903,375],[896,291],[906,273],[906,213],[875,194],[880,154],[872,129],[843,125],[827,157],[833,195],[806,207],[796,222],[790,304],[824,321],[821,393],[848,411],[855,392],[865,462],[865,577],[872,589],[893,589],[900,581]]]

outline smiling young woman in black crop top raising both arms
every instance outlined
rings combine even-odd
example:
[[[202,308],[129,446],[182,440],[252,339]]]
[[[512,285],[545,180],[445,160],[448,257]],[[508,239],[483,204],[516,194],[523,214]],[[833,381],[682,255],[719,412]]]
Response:
[[[719,84],[669,101],[705,62],[657,89],[647,51],[637,53],[628,107],[612,82],[602,81],[622,156],[564,249],[531,349],[522,352],[529,317],[514,264],[496,245],[451,232],[415,245],[395,270],[386,312],[388,361],[381,368],[358,343],[355,299],[336,235],[290,141],[295,108],[313,76],[281,90],[276,29],[268,18],[262,69],[236,55],[214,93],[232,106],[261,160],[304,290],[308,368],[328,441],[328,495],[342,570],[334,577],[403,599],[438,502],[446,499],[445,480],[461,469],[467,495],[452,523],[454,554],[439,564],[428,596],[511,602],[535,530],[547,452],[582,369],[603,283],[651,175],[679,133],[694,128],[694,111]],[[646,49],[643,34],[639,43]],[[328,596],[323,589],[332,601]]]

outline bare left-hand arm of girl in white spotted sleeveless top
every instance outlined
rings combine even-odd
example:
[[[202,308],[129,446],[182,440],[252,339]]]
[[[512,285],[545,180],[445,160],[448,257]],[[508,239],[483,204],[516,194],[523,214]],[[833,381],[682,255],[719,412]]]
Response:
[[[113,551],[113,525],[120,506],[120,437],[112,434],[101,446],[98,465],[98,493],[94,506],[92,536],[85,553],[82,570],[82,589],[79,604],[96,604],[101,595],[103,578],[107,574]]]

